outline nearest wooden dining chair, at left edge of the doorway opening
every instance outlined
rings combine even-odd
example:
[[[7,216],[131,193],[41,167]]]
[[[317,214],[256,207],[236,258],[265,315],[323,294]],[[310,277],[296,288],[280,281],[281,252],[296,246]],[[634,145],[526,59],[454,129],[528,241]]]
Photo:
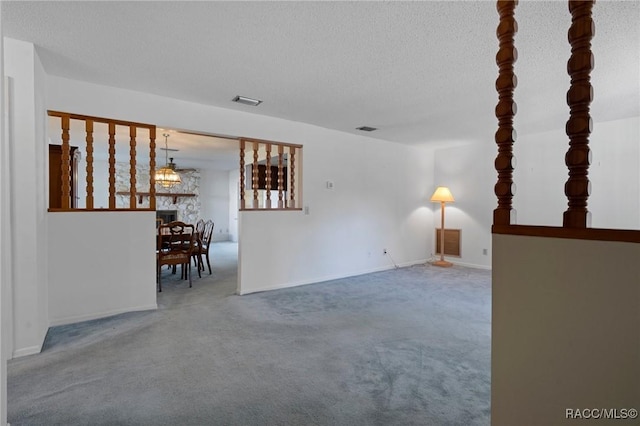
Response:
[[[195,247],[195,229],[184,222],[169,222],[158,227],[156,251],[156,276],[158,291],[162,291],[161,268],[163,265],[181,265],[182,276],[189,278],[191,287],[191,256]],[[199,274],[199,271],[198,271]]]

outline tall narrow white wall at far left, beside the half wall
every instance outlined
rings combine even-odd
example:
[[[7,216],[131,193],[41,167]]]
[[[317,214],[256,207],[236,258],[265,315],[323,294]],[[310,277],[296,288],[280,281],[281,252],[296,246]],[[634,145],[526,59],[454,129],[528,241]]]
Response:
[[[13,355],[40,351],[48,328],[44,70],[32,44],[5,39],[12,77]]]

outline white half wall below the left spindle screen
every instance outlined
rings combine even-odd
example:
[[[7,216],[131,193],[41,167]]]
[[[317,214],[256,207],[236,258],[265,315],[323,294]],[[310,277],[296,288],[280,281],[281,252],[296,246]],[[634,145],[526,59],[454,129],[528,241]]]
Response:
[[[156,309],[154,212],[49,213],[51,325]]]

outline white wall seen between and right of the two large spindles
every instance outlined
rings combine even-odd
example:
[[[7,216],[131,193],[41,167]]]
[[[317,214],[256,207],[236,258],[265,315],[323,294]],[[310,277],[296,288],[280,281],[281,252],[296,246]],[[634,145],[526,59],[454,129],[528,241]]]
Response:
[[[589,143],[592,227],[640,229],[639,140],[639,117],[594,124]],[[568,146],[564,129],[523,135],[514,145],[513,202],[519,224],[562,226]]]

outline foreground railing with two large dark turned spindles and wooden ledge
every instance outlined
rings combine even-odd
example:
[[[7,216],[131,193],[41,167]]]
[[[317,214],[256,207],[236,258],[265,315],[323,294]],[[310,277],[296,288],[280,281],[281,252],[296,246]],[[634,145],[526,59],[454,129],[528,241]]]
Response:
[[[493,215],[492,232],[494,234],[640,243],[638,230],[590,227],[587,201],[590,193],[588,169],[591,164],[589,135],[592,130],[592,121],[589,107],[593,100],[590,73],[594,66],[591,51],[591,39],[595,35],[595,24],[592,18],[594,3],[594,0],[568,1],[571,13],[571,26],[568,32],[571,57],[567,64],[567,72],[571,77],[571,85],[567,92],[570,115],[566,124],[569,149],[565,155],[565,163],[569,169],[569,178],[564,186],[564,192],[568,198],[568,209],[563,214],[563,226],[552,227],[516,225],[515,211],[511,208],[511,200],[515,192],[512,181],[515,163],[512,145],[516,139],[513,130],[513,116],[516,113],[516,105],[513,102],[513,90],[516,87],[513,63],[517,58],[517,51],[513,46],[513,36],[517,31],[517,23],[514,19],[517,0],[497,2],[500,15],[497,30],[500,50],[496,60],[500,71],[496,89],[500,100],[496,106],[499,128],[496,132],[498,157],[495,166],[498,171],[498,183],[495,193],[498,197],[498,208],[494,210]]]

